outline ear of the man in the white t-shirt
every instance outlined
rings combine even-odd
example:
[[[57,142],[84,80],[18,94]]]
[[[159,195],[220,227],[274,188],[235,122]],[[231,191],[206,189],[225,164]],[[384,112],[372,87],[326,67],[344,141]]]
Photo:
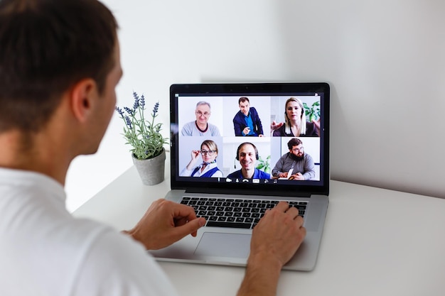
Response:
[[[86,78],[76,82],[70,92],[70,106],[73,116],[85,122],[97,97],[97,84],[95,80]]]

